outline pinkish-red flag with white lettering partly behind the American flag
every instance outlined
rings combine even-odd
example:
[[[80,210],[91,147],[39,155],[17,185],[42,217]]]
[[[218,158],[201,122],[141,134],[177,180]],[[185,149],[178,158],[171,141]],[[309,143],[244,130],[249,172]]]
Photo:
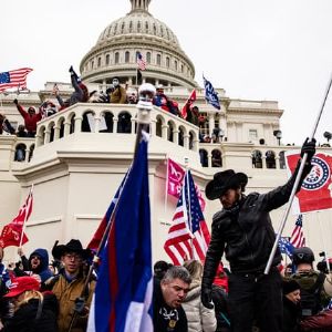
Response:
[[[167,172],[168,172],[168,177],[166,179],[167,194],[176,198],[179,198],[186,170],[179,164],[168,158]],[[200,208],[204,211],[206,207],[206,203],[196,184],[195,184],[195,189],[198,196]]]

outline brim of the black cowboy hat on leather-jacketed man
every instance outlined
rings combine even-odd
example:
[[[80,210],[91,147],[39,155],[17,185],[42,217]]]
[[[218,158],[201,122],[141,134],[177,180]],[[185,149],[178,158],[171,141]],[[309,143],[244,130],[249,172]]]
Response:
[[[217,179],[210,180],[205,188],[205,194],[209,200],[215,200],[220,198],[228,189],[237,186],[241,187],[241,190],[245,191],[247,184],[248,176],[245,173],[236,173],[221,186]]]

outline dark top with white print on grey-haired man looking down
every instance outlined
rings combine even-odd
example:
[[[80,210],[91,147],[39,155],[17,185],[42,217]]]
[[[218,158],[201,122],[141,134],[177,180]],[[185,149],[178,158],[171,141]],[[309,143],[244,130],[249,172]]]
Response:
[[[173,309],[163,298],[160,283],[154,280],[154,331],[155,332],[187,332],[187,317],[181,307]]]

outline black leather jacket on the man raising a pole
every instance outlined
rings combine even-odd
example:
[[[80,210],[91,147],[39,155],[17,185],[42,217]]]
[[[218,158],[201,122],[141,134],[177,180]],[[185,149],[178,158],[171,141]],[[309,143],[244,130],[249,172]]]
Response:
[[[276,239],[269,212],[289,200],[298,168],[286,185],[263,195],[243,195],[238,209],[222,209],[214,216],[203,276],[204,287],[210,288],[224,251],[232,273],[263,272]],[[298,190],[310,169],[311,165],[304,167]],[[280,261],[278,249],[272,266]]]

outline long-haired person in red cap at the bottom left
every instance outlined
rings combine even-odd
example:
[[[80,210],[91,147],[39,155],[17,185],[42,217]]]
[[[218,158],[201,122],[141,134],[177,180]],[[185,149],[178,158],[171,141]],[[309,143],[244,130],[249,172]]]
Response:
[[[33,277],[19,277],[4,298],[11,301],[13,315],[1,332],[58,332],[58,300],[51,292],[41,293]]]

